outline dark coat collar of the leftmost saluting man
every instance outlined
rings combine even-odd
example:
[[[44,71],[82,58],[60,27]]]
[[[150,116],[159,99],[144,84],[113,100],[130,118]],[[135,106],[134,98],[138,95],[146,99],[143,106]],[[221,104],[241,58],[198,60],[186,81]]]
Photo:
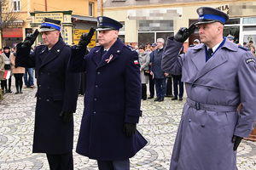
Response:
[[[42,51],[39,53],[40,59],[43,59],[43,62],[40,65],[40,67],[46,65],[51,60],[58,57],[59,54],[61,53],[61,49],[64,46],[65,46],[65,42],[63,42],[63,40],[61,38],[59,39],[59,41],[57,43],[55,43],[54,47],[49,50],[49,53],[47,53],[48,47],[44,46],[44,48],[42,48]]]

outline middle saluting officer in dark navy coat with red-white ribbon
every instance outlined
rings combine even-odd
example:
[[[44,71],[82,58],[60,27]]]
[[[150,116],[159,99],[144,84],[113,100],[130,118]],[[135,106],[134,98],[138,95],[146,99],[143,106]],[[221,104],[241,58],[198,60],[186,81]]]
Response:
[[[100,16],[98,42],[86,54],[95,29],[81,36],[72,48],[69,69],[86,71],[84,115],[77,152],[96,159],[99,169],[130,169],[129,158],[147,141],[136,129],[140,111],[142,85],[138,54],[118,37],[122,25]],[[84,56],[85,55],[85,56]]]

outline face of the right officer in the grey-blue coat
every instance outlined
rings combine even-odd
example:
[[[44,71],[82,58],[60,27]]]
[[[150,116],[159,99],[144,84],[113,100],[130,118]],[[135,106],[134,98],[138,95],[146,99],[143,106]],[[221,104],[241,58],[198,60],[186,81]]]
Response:
[[[219,22],[198,25],[201,42],[206,44],[214,42],[219,34],[223,34],[222,29],[223,25]]]

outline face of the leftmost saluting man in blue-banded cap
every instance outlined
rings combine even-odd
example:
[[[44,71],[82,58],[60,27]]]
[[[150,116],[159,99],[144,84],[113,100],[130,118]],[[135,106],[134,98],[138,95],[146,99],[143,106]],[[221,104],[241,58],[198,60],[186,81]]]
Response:
[[[52,48],[59,41],[60,31],[43,31],[41,32],[44,45]]]

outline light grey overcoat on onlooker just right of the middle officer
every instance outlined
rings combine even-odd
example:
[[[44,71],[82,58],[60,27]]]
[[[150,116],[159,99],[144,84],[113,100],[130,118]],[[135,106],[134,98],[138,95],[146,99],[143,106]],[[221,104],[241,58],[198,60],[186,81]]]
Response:
[[[145,76],[144,71],[149,71],[149,53],[147,51],[144,51],[143,53],[139,54],[139,61],[141,64],[141,79],[143,84],[148,84],[149,76]]]

